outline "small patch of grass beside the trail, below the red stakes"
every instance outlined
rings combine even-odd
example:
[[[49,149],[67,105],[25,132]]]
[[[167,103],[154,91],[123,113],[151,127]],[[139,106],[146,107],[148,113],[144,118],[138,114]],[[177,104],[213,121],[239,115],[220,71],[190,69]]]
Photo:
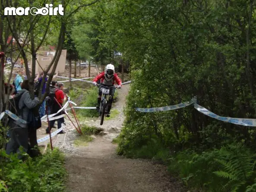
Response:
[[[83,125],[81,128],[82,135],[79,135],[79,137],[74,141],[74,144],[76,146],[79,146],[79,145],[87,146],[88,142],[93,141],[93,138],[90,135],[94,135],[96,130],[97,130],[96,127]]]

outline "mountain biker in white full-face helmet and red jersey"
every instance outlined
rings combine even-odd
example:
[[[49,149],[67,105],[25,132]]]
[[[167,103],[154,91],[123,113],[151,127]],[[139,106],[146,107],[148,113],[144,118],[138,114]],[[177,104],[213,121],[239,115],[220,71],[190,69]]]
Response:
[[[117,73],[115,73],[115,67],[112,64],[108,64],[106,66],[105,71],[101,72],[100,74],[98,74],[98,76],[96,76],[93,79],[93,85],[97,85],[98,80],[101,79],[101,85],[105,86],[105,87],[111,87],[114,86],[115,82],[117,83],[118,87],[117,88],[121,88],[122,86],[122,82],[120,80],[120,78],[117,76]],[[99,110],[100,108],[100,104],[101,104],[101,89],[99,88],[99,92],[98,92],[98,104],[96,106],[96,109]],[[112,107],[112,102],[113,102],[113,97],[114,97],[114,89],[110,89],[109,94],[111,95],[110,99],[109,99],[109,107],[108,107],[108,112],[106,114],[107,117],[110,116],[110,110]]]

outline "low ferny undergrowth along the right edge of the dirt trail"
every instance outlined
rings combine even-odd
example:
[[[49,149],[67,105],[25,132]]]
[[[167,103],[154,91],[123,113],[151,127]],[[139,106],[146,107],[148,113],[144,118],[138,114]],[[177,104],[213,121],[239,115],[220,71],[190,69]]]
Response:
[[[156,135],[151,135],[151,138],[145,136],[144,141],[138,143],[125,138],[123,133],[113,140],[113,143],[118,143],[118,154],[165,164],[172,175],[180,176],[191,189],[204,192],[256,192],[256,154],[242,143],[219,149],[199,151],[190,148],[174,152]]]

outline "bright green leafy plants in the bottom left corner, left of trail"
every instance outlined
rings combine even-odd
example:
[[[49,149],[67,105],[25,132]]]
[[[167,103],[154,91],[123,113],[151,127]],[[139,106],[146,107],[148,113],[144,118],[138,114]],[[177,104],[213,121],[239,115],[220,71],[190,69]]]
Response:
[[[2,169],[1,184],[11,192],[63,192],[66,181],[64,156],[58,150],[47,151],[43,157],[27,158],[25,162],[18,159],[17,154],[6,155],[1,151]]]

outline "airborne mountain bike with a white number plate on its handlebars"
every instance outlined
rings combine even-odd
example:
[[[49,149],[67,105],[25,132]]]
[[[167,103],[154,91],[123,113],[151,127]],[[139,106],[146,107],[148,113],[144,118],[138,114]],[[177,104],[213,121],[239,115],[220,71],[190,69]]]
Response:
[[[100,125],[103,124],[104,121],[104,116],[106,116],[106,113],[108,111],[108,107],[110,103],[108,102],[109,99],[111,99],[111,95],[109,94],[111,89],[117,89],[115,86],[111,87],[105,87],[104,85],[99,85],[97,84],[97,87],[101,89],[101,104],[100,104],[100,110],[99,110],[99,116],[101,116],[101,123]]]

